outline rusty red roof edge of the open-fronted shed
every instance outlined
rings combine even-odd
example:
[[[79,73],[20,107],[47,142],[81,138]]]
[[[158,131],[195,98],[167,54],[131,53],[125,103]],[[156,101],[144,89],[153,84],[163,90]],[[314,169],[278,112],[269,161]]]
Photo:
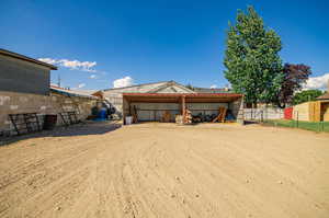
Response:
[[[179,103],[185,99],[186,103],[222,103],[241,99],[237,93],[123,93],[128,102],[148,103]]]

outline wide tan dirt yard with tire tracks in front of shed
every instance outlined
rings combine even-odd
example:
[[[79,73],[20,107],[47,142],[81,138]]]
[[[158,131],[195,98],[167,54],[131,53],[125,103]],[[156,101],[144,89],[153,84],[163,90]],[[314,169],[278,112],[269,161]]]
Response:
[[[0,147],[0,217],[329,217],[329,135],[305,130],[93,124]]]

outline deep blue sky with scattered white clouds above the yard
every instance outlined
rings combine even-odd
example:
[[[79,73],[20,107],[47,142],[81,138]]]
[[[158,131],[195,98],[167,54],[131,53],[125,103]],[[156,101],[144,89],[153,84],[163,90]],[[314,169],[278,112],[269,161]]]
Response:
[[[0,47],[59,66],[52,83],[100,90],[174,80],[224,87],[228,22],[253,5],[283,43],[283,62],[305,64],[308,88],[329,79],[329,1],[1,0]]]

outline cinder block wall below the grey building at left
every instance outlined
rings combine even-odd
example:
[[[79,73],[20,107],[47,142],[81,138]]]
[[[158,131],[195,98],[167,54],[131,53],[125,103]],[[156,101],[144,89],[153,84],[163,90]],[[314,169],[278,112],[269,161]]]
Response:
[[[64,111],[79,111],[78,117],[86,119],[97,100],[88,97],[65,96],[50,92],[50,95],[0,92],[0,131],[12,130],[9,114],[37,113],[41,118],[45,114],[58,114]],[[79,110],[77,110],[79,108]],[[58,115],[57,125],[63,125]]]

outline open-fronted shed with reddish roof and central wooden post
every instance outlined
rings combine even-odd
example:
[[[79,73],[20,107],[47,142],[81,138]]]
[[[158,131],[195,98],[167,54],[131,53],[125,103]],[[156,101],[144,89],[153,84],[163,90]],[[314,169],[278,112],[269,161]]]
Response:
[[[238,123],[243,122],[243,95],[237,93],[123,93],[123,118],[137,114],[140,122],[159,122],[164,112],[174,121],[185,108],[196,114],[218,114],[219,107],[231,111]]]

